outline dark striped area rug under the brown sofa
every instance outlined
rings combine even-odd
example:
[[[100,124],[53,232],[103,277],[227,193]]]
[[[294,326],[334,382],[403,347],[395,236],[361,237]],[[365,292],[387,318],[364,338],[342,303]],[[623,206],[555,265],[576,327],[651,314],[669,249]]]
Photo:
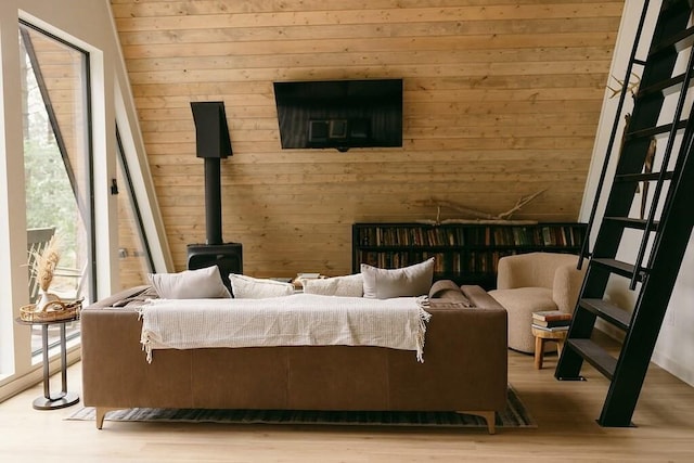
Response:
[[[93,407],[85,407],[66,420],[93,421]],[[487,427],[476,415],[453,412],[373,412],[313,410],[206,410],[136,408],[108,412],[106,421],[187,422],[227,424],[320,424],[320,425],[384,425]],[[497,427],[537,427],[532,416],[509,386],[506,408],[497,413]]]

